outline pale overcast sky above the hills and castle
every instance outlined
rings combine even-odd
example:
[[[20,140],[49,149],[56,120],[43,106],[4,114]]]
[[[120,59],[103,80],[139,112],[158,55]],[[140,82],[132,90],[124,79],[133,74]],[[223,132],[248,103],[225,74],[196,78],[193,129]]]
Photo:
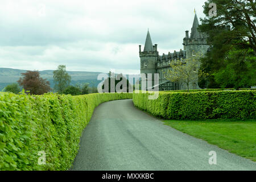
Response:
[[[183,48],[205,0],[0,1],[0,67],[139,73],[147,28],[159,54]]]

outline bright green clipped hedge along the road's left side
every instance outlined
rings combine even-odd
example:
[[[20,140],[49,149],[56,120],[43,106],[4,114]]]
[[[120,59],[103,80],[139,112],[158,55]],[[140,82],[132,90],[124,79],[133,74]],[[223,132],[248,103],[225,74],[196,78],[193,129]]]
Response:
[[[102,102],[127,98],[132,94],[0,93],[0,171],[69,169],[94,108]],[[39,151],[46,152],[46,165],[38,164]]]

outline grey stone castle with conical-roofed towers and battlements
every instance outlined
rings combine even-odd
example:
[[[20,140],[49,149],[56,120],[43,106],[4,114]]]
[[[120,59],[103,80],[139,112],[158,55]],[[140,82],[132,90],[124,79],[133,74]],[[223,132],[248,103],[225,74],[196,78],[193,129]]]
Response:
[[[174,53],[168,52],[162,56],[159,55],[158,45],[152,45],[150,32],[147,32],[146,42],[143,52],[141,46],[139,46],[139,57],[141,58],[141,73],[145,73],[146,77],[148,73],[159,73],[159,90],[185,90],[187,84],[181,81],[171,82],[166,79],[165,74],[170,69],[171,61],[175,60],[188,60],[192,56],[196,56],[196,53],[204,55],[207,52],[208,45],[206,36],[197,30],[199,21],[197,15],[193,20],[193,26],[191,28],[191,35],[188,35],[189,31],[185,31],[185,38],[183,39],[184,49],[180,51],[174,51]],[[197,84],[197,72],[199,68],[195,68],[195,76],[191,83],[189,83],[189,89],[200,89]],[[154,77],[152,78],[154,85]]]

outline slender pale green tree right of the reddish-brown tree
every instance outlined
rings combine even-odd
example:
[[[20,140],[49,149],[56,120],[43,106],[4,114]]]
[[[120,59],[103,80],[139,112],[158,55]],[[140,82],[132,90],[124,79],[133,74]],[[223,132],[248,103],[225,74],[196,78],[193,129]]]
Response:
[[[62,93],[71,82],[71,76],[68,75],[65,65],[59,65],[57,70],[53,71],[53,81],[55,90]]]

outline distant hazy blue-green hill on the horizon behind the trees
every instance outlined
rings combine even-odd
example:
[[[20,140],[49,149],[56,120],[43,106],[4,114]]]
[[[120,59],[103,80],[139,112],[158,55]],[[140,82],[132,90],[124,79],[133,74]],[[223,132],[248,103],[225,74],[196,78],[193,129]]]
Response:
[[[12,84],[19,80],[20,74],[25,73],[27,70],[22,69],[11,69],[11,68],[0,68],[0,92],[5,86]],[[46,78],[53,88],[53,70],[39,71],[40,76]],[[97,86],[101,81],[97,80],[97,77],[102,72],[77,72],[67,71],[71,76],[71,85],[80,83],[89,83],[89,86]]]

